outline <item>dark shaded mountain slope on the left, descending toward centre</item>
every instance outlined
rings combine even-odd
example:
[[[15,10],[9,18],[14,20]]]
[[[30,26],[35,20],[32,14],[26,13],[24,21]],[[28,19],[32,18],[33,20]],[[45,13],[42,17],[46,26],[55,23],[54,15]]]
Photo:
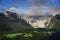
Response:
[[[25,25],[26,24],[26,25]],[[32,27],[24,20],[19,19],[16,13],[0,13],[0,32],[26,32]]]

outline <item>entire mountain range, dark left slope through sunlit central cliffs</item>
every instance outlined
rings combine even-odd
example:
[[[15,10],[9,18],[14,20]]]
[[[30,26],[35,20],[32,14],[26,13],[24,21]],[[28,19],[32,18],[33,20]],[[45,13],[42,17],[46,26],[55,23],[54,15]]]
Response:
[[[18,16],[17,13],[7,11],[0,13],[0,31],[8,30],[10,32],[17,32],[34,28],[56,28],[60,23],[60,21],[56,19],[58,17],[60,16]]]

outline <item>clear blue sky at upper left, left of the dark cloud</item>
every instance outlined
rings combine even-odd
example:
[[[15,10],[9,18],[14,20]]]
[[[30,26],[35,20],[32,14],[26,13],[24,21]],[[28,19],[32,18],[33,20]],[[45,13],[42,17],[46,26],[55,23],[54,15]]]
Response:
[[[17,7],[17,8],[28,8],[31,3],[27,2],[26,0],[0,0],[0,7]]]

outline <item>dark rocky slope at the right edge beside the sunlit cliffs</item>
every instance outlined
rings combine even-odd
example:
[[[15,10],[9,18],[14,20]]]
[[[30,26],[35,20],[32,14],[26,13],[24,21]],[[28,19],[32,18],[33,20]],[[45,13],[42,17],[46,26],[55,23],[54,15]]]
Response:
[[[55,15],[55,17],[51,19],[48,28],[55,29],[56,31],[60,31],[60,14]]]

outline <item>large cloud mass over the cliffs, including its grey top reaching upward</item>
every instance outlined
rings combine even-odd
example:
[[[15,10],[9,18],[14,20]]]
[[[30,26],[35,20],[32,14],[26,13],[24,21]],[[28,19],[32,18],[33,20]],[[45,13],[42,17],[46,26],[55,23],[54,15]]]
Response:
[[[49,6],[44,6],[46,3],[54,3],[57,0],[27,0],[33,3],[32,6],[23,12],[25,15],[55,15],[58,14],[59,8],[51,8]]]

